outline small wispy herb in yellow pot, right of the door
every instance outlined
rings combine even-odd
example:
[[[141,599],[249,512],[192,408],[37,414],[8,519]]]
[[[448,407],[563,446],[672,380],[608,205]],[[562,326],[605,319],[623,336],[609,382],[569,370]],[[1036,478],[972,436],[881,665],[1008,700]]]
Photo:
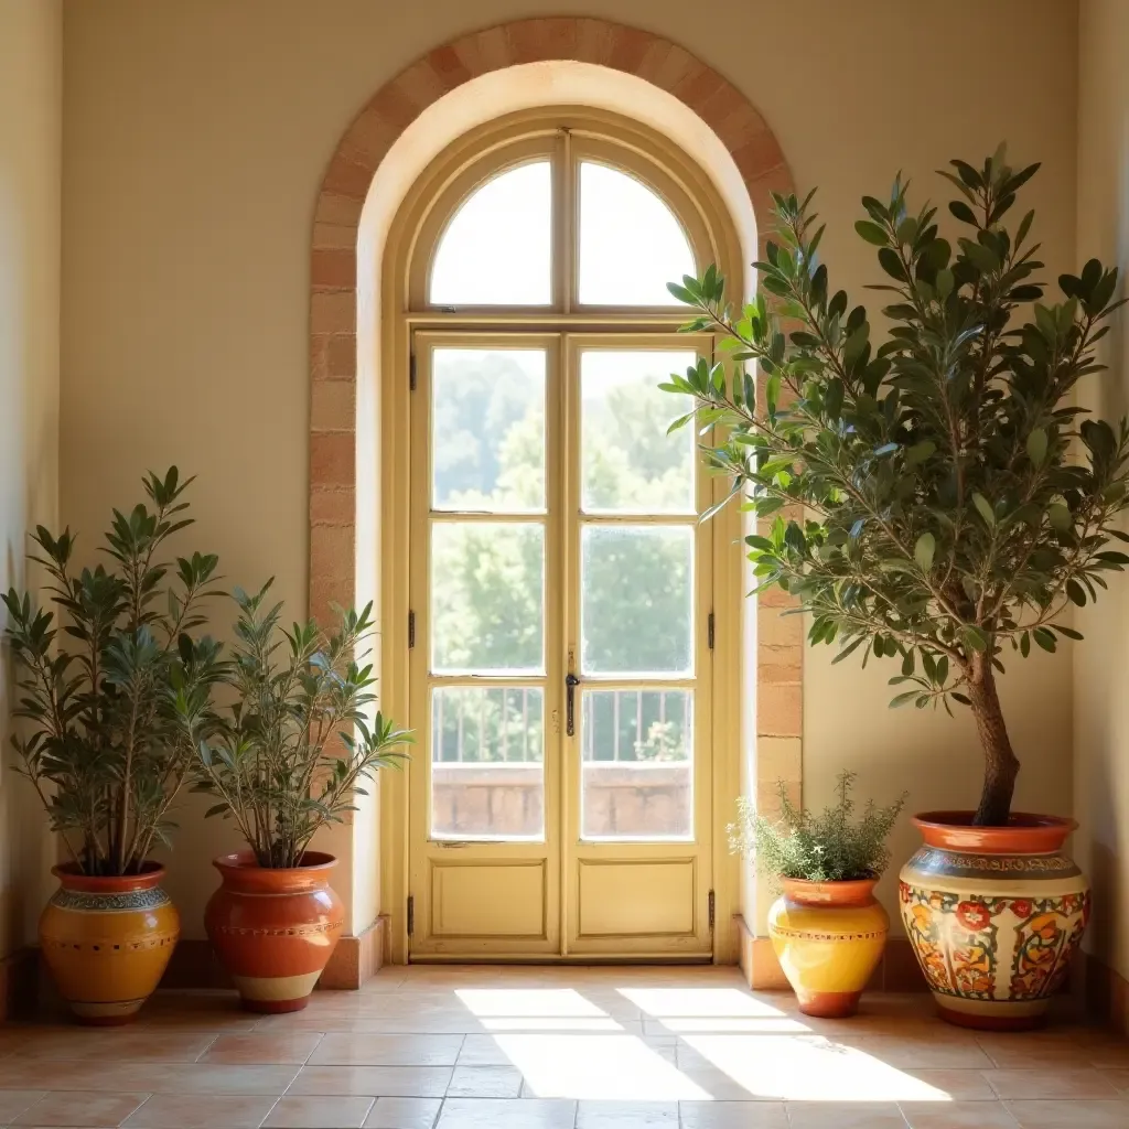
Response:
[[[769,937],[805,1015],[846,1018],[858,1010],[882,960],[890,918],[874,886],[890,861],[886,838],[905,804],[867,803],[856,819],[854,772],[840,772],[838,800],[819,815],[798,808],[784,782],[780,819],[742,798],[729,847],[779,882],[769,910]]]

